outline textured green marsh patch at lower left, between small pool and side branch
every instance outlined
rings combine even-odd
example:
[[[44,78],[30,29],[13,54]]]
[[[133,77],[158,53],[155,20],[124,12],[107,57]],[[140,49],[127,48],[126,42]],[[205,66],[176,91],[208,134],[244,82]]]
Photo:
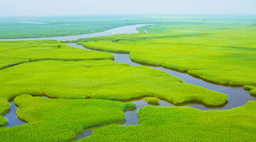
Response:
[[[135,104],[97,99],[48,99],[18,96],[17,115],[29,122],[12,128],[0,127],[1,142],[65,142],[84,128],[125,119],[125,108]]]

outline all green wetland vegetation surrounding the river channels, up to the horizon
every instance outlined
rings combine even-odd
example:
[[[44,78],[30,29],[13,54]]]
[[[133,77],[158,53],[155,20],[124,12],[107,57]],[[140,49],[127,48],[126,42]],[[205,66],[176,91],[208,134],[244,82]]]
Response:
[[[185,71],[218,84],[244,85],[256,95],[255,17],[137,15],[127,19],[0,18],[5,20],[0,21],[0,38],[79,35],[157,24],[139,27],[135,34],[66,41],[98,52],[56,40],[0,41],[0,141],[74,141],[87,128],[97,129],[91,136],[81,136],[80,142],[256,141],[256,101],[230,110],[180,107],[198,101],[197,105],[210,109],[225,106],[229,98],[161,70],[113,61],[115,56],[109,53],[129,54],[137,63]],[[26,124],[5,127],[9,120],[3,116],[13,99],[17,117]],[[177,107],[161,107],[163,100]],[[134,113],[126,110],[139,110],[132,115],[138,115],[139,122],[136,117],[124,123]]]

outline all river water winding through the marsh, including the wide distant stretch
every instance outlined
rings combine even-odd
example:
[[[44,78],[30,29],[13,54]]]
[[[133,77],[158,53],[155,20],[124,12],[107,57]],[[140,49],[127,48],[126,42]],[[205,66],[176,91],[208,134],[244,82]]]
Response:
[[[140,26],[146,26],[145,24],[140,24],[140,25],[132,25],[132,26],[123,26],[123,27],[118,27],[118,28],[113,28],[106,30],[104,32],[98,32],[98,33],[92,33],[92,34],[85,34],[85,35],[72,35],[72,36],[61,36],[61,37],[51,37],[51,38],[20,38],[20,39],[0,39],[0,41],[15,41],[15,40],[76,40],[79,38],[92,38],[92,37],[99,37],[99,36],[105,36],[105,35],[110,35],[111,32],[115,32],[116,34],[125,34],[125,33],[138,33],[136,30],[137,27]],[[145,30],[145,32],[147,32]],[[67,45],[79,48],[79,49],[86,49],[85,47],[81,45],[77,45],[76,43],[66,43]],[[118,43],[117,43],[118,44]],[[90,50],[90,49],[87,49]],[[171,102],[168,102],[164,99],[160,99],[161,101],[159,104],[151,104],[143,100],[143,98],[137,98],[137,99],[130,99],[128,101],[132,101],[136,103],[136,107],[134,110],[128,110],[125,111],[125,122],[121,125],[137,125],[138,124],[138,116],[137,116],[137,111],[141,107],[145,107],[147,105],[155,105],[155,106],[188,106],[188,107],[194,107],[200,110],[223,110],[223,109],[231,109],[233,107],[239,107],[244,104],[246,104],[248,101],[256,101],[256,96],[250,95],[249,90],[245,90],[242,86],[237,86],[237,85],[222,85],[222,84],[215,84],[209,81],[204,81],[201,78],[198,78],[193,75],[189,75],[187,72],[180,72],[177,70],[171,70],[171,69],[166,69],[163,67],[158,67],[158,66],[149,66],[146,64],[140,64],[131,61],[129,55],[127,54],[116,54],[115,55],[114,61],[117,61],[119,63],[126,63],[130,64],[131,66],[146,66],[146,67],[151,67],[157,70],[162,70],[170,75],[177,76],[178,78],[181,78],[185,83],[188,84],[195,84],[204,88],[207,88],[209,90],[214,90],[217,92],[225,93],[229,96],[229,100],[226,104],[218,106],[218,107],[209,107],[205,106],[204,104],[200,102],[195,102],[195,101],[189,101],[185,102],[182,104],[173,104]],[[14,125],[22,125],[25,124],[26,122],[21,121],[16,114],[17,111],[17,106],[13,103],[13,100],[10,101],[11,103],[11,109],[9,110],[9,113],[7,113],[4,117],[8,118],[9,122],[7,124],[7,127],[12,127]],[[92,134],[92,130],[85,130],[84,133],[82,133],[80,136],[76,137],[77,139],[84,138],[86,136],[90,136]]]

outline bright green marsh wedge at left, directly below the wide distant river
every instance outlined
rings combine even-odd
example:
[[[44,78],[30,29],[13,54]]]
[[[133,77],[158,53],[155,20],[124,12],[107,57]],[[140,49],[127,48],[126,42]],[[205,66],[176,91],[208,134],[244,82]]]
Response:
[[[58,48],[58,45],[60,47]],[[41,60],[102,60],[114,59],[106,52],[76,49],[55,40],[46,41],[0,41],[0,69],[25,62]]]

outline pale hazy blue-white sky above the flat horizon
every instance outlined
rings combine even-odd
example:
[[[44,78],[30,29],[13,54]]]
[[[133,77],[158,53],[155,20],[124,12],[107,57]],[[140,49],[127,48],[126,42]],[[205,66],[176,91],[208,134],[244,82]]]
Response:
[[[0,1],[0,17],[88,14],[256,14],[256,0]]]

